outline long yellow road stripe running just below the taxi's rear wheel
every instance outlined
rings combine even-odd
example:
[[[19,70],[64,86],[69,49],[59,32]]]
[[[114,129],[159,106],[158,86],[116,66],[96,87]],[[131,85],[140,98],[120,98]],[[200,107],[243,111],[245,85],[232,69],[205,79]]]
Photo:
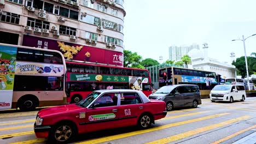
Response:
[[[191,120],[188,120],[188,121],[183,121],[183,122],[177,122],[177,123],[171,123],[171,124],[162,125],[162,126],[155,127],[155,128],[138,130],[138,131],[132,131],[130,133],[124,133],[124,134],[119,134],[119,135],[102,137],[100,139],[79,142],[79,144],[82,144],[82,143],[83,144],[84,143],[90,143],[90,144],[92,144],[92,143],[101,143],[101,142],[107,142],[107,141],[111,141],[111,140],[122,139],[124,137],[129,137],[129,136],[133,136],[133,135],[149,133],[149,132],[152,132],[152,131],[166,129],[166,128],[171,128],[171,127],[176,127],[178,125],[183,125],[183,124],[188,124],[188,123],[193,123],[193,122],[199,122],[199,121],[203,121],[205,119],[210,119],[210,118],[214,118],[214,117],[224,116],[224,115],[228,115],[228,114],[230,114],[230,113],[220,113],[218,115],[212,115],[212,116],[206,116],[206,117],[201,117],[201,118],[195,118],[195,119],[191,119]]]

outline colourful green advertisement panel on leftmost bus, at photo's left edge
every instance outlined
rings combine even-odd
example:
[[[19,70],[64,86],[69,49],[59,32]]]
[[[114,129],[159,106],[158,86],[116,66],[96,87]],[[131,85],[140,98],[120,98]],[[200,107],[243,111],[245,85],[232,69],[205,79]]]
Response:
[[[0,110],[11,108],[16,52],[17,47],[0,45]]]

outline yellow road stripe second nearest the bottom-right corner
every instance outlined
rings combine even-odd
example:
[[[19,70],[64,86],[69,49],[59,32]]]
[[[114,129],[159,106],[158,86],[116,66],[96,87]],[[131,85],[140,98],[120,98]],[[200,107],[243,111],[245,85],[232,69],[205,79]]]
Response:
[[[153,144],[153,143],[161,143],[162,144],[162,143],[168,143],[168,142],[181,140],[181,139],[184,139],[185,137],[189,137],[189,136],[192,136],[192,135],[195,135],[195,134],[202,133],[204,131],[208,131],[208,130],[216,129],[216,128],[219,128],[219,127],[223,127],[223,126],[231,124],[231,123],[242,121],[243,119],[247,119],[249,117],[250,116],[243,116],[243,117],[238,117],[238,118],[235,118],[235,119],[230,119],[229,121],[225,121],[225,122],[222,122],[222,123],[212,124],[212,125],[209,125],[209,126],[206,126],[206,127],[198,128],[198,129],[195,129],[195,130],[190,130],[190,131],[187,131],[185,133],[165,137],[164,139],[148,142],[147,144]]]

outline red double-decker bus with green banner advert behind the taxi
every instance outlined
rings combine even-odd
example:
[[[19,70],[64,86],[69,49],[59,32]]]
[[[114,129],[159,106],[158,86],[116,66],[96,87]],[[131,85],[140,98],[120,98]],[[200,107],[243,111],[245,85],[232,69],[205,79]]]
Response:
[[[67,102],[78,103],[97,89],[137,89],[152,93],[149,71],[67,61]]]

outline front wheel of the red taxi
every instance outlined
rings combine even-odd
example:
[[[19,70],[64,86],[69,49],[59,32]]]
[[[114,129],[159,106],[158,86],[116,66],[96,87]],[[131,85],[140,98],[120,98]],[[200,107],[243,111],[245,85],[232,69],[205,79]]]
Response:
[[[68,143],[77,135],[77,129],[70,122],[61,122],[54,125],[50,131],[49,140],[55,143]]]

